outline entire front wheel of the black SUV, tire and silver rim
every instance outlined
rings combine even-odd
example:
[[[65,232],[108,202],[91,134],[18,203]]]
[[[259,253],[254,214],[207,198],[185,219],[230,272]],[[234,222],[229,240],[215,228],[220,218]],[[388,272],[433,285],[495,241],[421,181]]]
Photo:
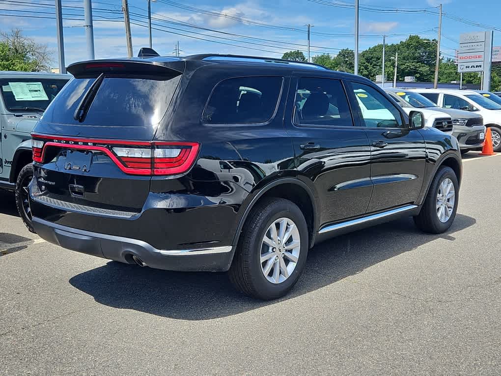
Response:
[[[416,226],[431,234],[447,231],[456,217],[458,195],[459,184],[454,170],[440,167],[431,182],[421,212],[414,217]]]

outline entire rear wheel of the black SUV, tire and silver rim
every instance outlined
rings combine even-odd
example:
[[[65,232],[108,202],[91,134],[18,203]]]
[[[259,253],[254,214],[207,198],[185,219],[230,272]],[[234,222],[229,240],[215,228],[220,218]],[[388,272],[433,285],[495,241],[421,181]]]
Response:
[[[298,281],[308,245],[308,227],[301,210],[288,200],[263,200],[245,222],[229,278],[246,295],[279,298]]]

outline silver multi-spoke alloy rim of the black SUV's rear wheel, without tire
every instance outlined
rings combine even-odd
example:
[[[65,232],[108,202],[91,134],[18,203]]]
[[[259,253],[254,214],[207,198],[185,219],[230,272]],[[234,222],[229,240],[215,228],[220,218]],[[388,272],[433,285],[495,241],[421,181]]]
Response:
[[[289,218],[274,221],[263,237],[261,269],[271,283],[287,280],[299,260],[301,238],[296,224]]]

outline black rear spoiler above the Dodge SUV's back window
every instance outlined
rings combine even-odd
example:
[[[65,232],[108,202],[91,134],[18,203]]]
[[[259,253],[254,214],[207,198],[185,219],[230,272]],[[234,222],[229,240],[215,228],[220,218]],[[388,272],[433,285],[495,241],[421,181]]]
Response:
[[[141,76],[176,77],[184,72],[185,62],[180,60],[155,61],[153,59],[90,60],[71,64],[67,71],[76,78],[97,77],[101,73]]]

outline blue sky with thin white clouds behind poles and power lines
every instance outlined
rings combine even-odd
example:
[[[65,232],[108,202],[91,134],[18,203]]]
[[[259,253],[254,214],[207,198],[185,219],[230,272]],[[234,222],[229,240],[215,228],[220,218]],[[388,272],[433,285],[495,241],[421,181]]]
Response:
[[[336,3],[341,7],[318,3]],[[437,12],[437,9],[432,7],[436,7],[439,3],[439,0],[361,0],[361,5],[366,7],[427,9],[429,12]],[[442,0],[441,3],[444,12],[449,15],[496,27],[499,25],[498,15],[501,11],[501,2],[497,0],[484,0],[483,5],[488,6],[482,7],[472,6],[470,0]],[[82,4],[82,0],[63,0],[67,65],[87,59]],[[152,17],[153,23],[156,24],[154,28],[162,30],[153,30],[153,48],[161,55],[170,55],[174,51],[174,44],[179,41],[181,55],[233,53],[280,57],[283,52],[292,49],[307,50],[305,25],[312,24],[314,27],[311,44],[318,46],[312,48],[312,56],[321,52],[336,54],[339,49],[354,47],[354,38],[343,36],[354,32],[354,10],[343,8],[344,5],[350,4],[353,4],[353,1],[158,0],[151,3]],[[191,9],[181,9],[178,5],[188,6]],[[126,56],[121,0],[96,0],[93,1],[93,8],[96,58]],[[148,45],[147,28],[144,27],[147,1],[129,0],[129,8],[134,23],[132,44],[136,55],[140,47]],[[210,12],[210,14],[193,8]],[[54,0],[0,0],[0,30],[19,28],[24,31],[25,35],[34,38],[37,42],[47,44],[54,51],[53,66],[57,67],[55,20],[27,17],[52,18],[53,13]],[[13,15],[21,17],[13,17]],[[239,22],[239,19],[265,24],[265,26],[249,25]],[[396,43],[406,38],[405,35],[391,36],[392,34],[419,34],[424,38],[436,38],[437,25],[438,16],[433,14],[388,14],[361,11],[360,33],[373,37],[360,38],[360,50],[381,43],[381,37],[376,36],[383,34],[390,35],[387,37],[387,43]],[[482,30],[481,27],[465,25],[444,17],[442,53],[446,54],[445,56],[453,55],[460,33]],[[501,45],[501,33],[495,32],[494,46],[498,45]]]

